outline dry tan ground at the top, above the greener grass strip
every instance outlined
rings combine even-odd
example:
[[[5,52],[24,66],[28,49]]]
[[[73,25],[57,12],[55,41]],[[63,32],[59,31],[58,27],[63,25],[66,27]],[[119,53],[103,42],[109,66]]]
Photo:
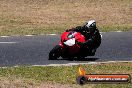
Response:
[[[132,1],[1,0],[0,17],[21,21],[23,26],[70,27],[89,19],[98,25],[127,25],[132,22]]]

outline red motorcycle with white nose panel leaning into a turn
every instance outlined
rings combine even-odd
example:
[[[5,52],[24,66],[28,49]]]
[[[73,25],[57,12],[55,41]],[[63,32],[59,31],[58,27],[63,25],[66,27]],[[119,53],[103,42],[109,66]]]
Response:
[[[90,56],[88,54],[83,55],[81,46],[78,44],[84,43],[85,41],[85,37],[79,32],[63,32],[61,41],[49,53],[49,60],[56,60],[59,57],[73,59]]]

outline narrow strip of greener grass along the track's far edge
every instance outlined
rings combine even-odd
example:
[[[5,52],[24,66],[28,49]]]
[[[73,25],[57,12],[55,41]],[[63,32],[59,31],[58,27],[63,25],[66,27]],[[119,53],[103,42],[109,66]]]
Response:
[[[116,31],[131,31],[132,26],[104,26],[99,27],[100,32],[116,32]],[[43,27],[18,27],[5,29],[0,32],[0,36],[11,36],[11,35],[41,35],[41,34],[61,34],[66,28],[54,27],[54,28],[43,28]]]

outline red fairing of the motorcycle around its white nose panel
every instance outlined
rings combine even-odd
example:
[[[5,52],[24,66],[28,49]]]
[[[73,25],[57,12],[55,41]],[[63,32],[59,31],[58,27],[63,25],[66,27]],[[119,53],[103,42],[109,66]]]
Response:
[[[61,41],[59,42],[59,45],[62,47],[62,49],[67,50],[67,53],[69,55],[75,55],[79,52],[80,46],[78,44],[74,44],[73,46],[67,46],[64,44],[65,41],[75,38],[76,42],[85,42],[85,37],[79,33],[79,32],[63,32],[61,35]]]

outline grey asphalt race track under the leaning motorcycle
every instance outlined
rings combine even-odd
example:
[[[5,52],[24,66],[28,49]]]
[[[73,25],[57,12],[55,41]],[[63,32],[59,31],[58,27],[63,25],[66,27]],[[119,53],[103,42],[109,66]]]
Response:
[[[0,66],[49,65],[132,60],[132,32],[102,33],[96,55],[81,61],[48,60],[49,51],[60,35],[0,37]]]

